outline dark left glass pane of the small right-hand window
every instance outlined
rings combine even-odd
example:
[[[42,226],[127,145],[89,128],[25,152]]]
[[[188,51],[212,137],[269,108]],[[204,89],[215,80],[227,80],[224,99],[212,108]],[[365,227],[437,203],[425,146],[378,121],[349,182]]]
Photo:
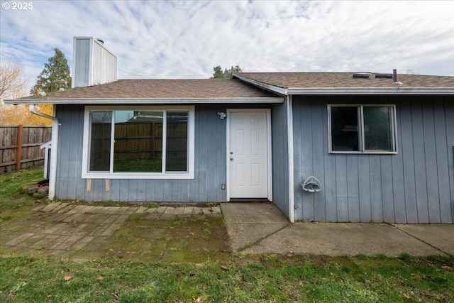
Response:
[[[331,107],[331,148],[333,151],[358,151],[358,107]]]

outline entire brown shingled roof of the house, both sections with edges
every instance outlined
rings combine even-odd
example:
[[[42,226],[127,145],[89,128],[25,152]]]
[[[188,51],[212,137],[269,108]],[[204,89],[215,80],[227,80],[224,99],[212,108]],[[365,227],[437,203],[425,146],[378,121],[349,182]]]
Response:
[[[241,72],[233,79],[121,79],[7,104],[282,103],[287,94],[454,94],[454,77],[399,74],[356,78],[353,72]],[[31,101],[33,99],[33,101]]]

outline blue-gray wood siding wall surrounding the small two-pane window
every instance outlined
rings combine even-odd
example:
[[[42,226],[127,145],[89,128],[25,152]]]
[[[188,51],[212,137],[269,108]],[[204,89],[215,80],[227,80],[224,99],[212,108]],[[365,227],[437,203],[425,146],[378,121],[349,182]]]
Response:
[[[398,153],[329,154],[327,104],[396,104]],[[293,120],[295,220],[453,223],[452,97],[294,96]]]

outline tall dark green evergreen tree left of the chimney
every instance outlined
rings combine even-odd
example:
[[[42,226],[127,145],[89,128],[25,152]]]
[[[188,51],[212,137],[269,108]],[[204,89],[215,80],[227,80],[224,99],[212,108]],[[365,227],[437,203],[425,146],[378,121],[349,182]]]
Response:
[[[55,55],[44,64],[44,69],[36,77],[36,84],[30,90],[30,94],[37,95],[39,92],[57,92],[59,89],[71,88],[71,73],[68,61],[61,50],[55,48]]]

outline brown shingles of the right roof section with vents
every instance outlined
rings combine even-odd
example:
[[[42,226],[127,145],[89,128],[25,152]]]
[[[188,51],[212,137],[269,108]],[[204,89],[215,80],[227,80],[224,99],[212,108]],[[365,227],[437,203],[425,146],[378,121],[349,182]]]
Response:
[[[353,77],[353,72],[240,72],[234,77],[262,87],[295,89],[454,89],[454,77],[399,74],[402,84],[392,84],[392,78]]]

